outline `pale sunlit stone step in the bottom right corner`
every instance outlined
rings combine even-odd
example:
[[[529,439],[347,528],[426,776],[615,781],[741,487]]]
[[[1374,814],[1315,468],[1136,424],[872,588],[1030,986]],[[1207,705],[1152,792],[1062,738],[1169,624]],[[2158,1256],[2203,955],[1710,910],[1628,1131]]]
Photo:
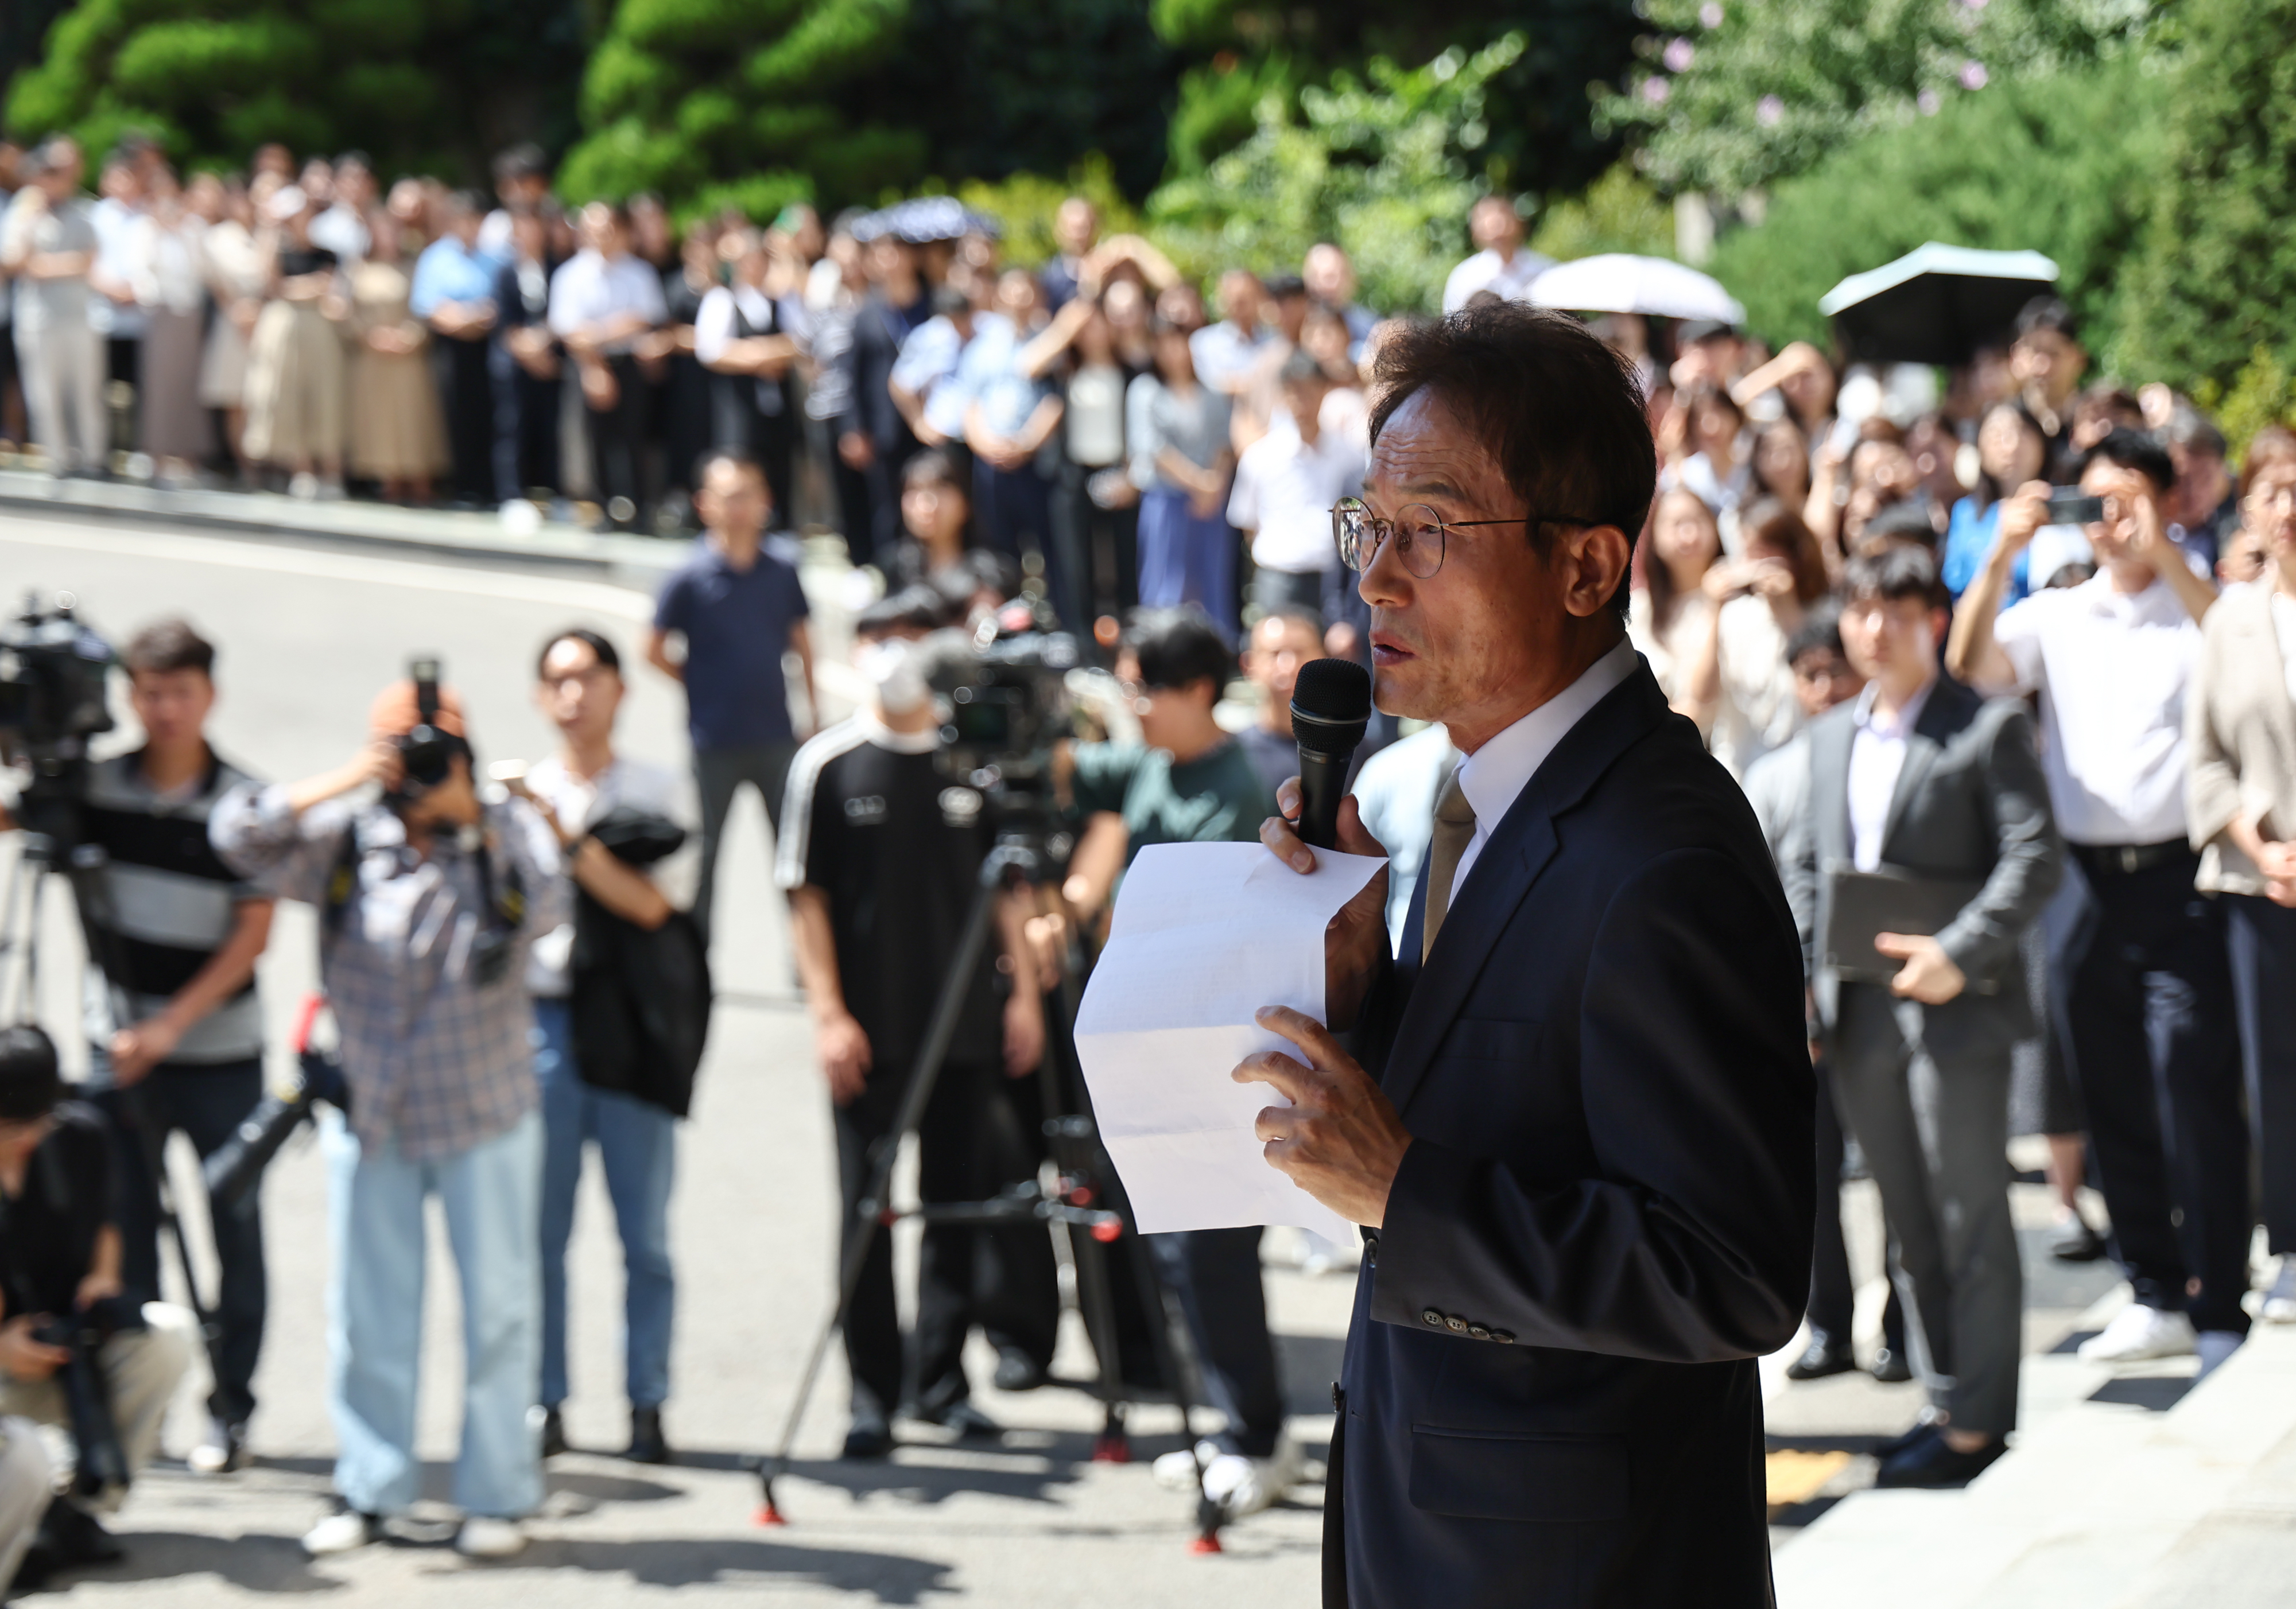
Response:
[[[2296,1329],[2259,1324],[2197,1384],[2190,1359],[2110,1370],[2071,1347],[2027,1359],[2025,1428],[1968,1490],[1857,1492],[1782,1549],[1782,1609],[2287,1604]],[[2229,1563],[2195,1595],[2179,1561],[2213,1556],[2211,1538],[2232,1542]],[[2250,1577],[2271,1593],[2236,1595]]]

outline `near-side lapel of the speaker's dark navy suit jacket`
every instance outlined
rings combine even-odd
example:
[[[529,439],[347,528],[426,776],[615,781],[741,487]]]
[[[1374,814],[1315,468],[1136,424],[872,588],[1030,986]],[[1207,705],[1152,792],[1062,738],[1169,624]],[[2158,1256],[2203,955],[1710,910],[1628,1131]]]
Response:
[[[1435,1047],[1481,975],[1499,932],[1513,918],[1522,895],[1554,858],[1554,817],[1575,806],[1589,787],[1635,741],[1667,718],[1667,698],[1658,691],[1649,663],[1603,695],[1570,728],[1545,764],[1531,776],[1515,803],[1499,817],[1490,842],[1469,868],[1467,886],[1456,888],[1435,950],[1412,982],[1396,1042],[1387,1054],[1380,1086],[1401,1111],[1435,1056]],[[1403,934],[1410,955],[1419,955],[1426,932],[1426,879],[1412,893],[1412,918]]]

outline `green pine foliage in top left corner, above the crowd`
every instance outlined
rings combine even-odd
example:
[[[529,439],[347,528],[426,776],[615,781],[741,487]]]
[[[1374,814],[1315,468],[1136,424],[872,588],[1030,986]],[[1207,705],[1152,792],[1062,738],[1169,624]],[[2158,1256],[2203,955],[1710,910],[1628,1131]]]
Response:
[[[7,131],[101,151],[126,129],[179,161],[243,163],[264,140],[363,147],[388,168],[478,179],[572,110],[567,0],[80,0],[7,94]]]

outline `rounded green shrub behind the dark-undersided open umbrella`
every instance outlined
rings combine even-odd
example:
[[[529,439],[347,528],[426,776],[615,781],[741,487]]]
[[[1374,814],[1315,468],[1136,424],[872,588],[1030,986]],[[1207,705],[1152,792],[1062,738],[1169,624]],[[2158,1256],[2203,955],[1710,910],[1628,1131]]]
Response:
[[[1945,241],[2034,248],[2092,328],[2110,324],[2115,278],[2151,204],[2170,83],[2126,55],[2046,73],[1876,129],[1782,181],[1761,225],[1724,234],[1708,269],[1773,342],[1828,344],[1818,296],[1839,280]]]

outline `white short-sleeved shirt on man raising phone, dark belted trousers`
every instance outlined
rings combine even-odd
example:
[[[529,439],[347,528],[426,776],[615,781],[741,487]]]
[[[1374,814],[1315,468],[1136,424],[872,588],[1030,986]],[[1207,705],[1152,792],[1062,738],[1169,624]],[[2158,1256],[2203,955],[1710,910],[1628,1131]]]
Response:
[[[2099,572],[2011,604],[1993,638],[2014,689],[2041,693],[2041,771],[2057,829],[2076,845],[2183,838],[2183,698],[2200,624],[2165,581],[2115,592]]]

